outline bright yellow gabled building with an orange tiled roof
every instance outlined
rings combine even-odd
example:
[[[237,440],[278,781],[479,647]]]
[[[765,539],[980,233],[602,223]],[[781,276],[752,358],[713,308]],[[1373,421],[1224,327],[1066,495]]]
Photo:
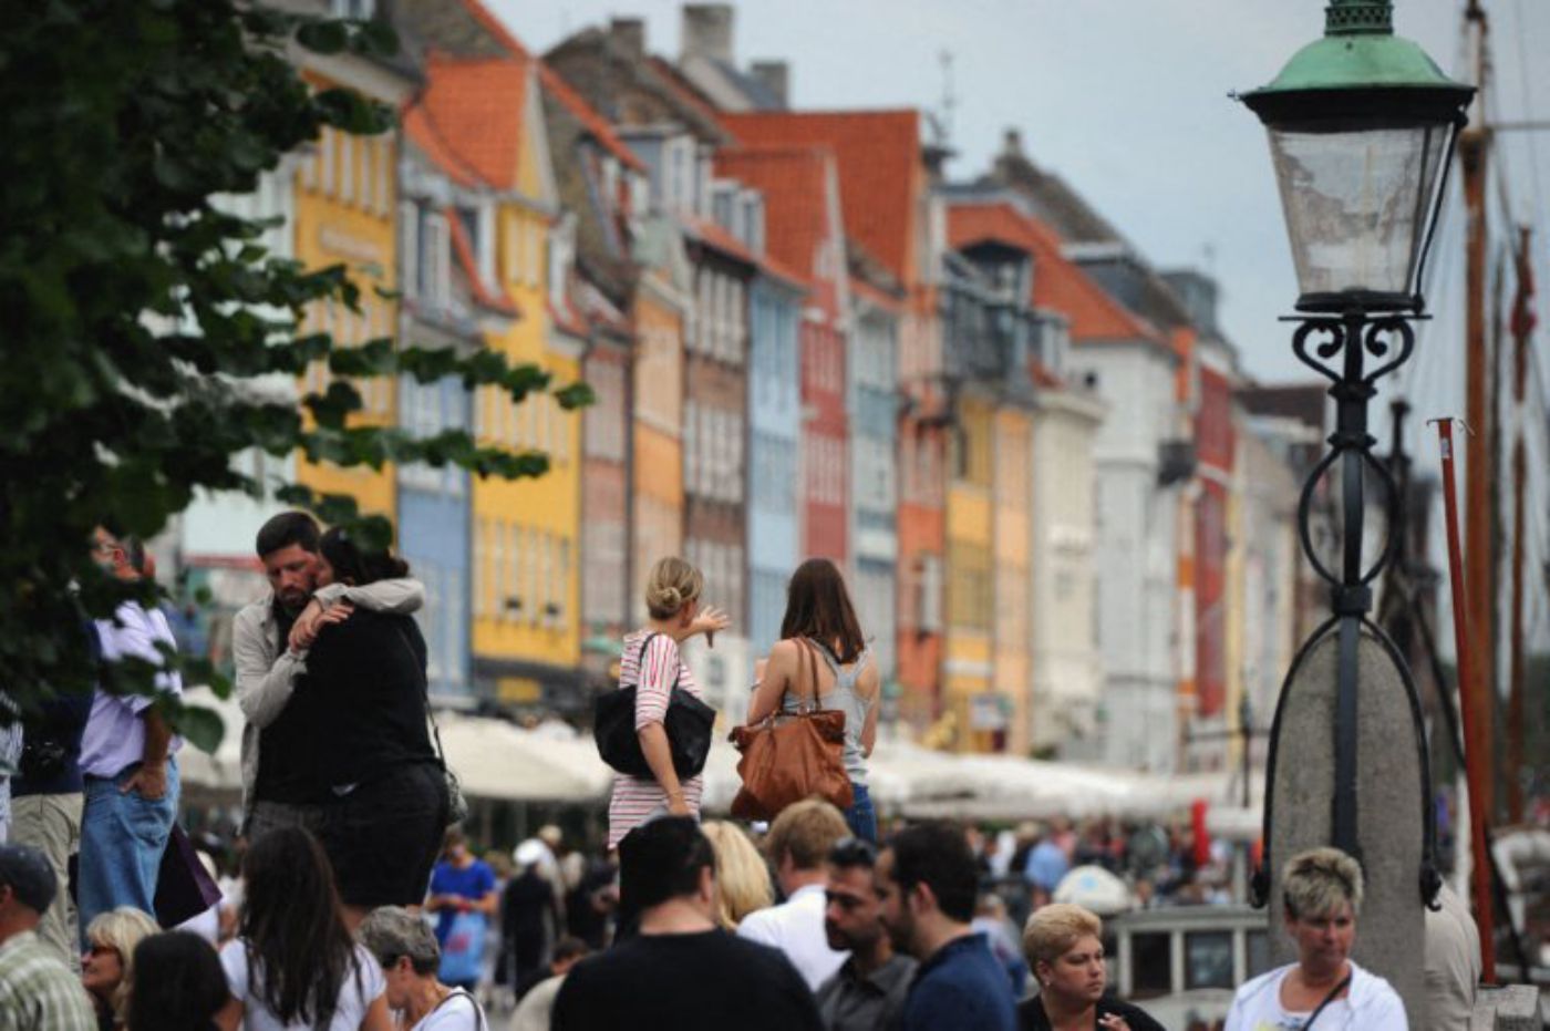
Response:
[[[425,71],[411,124],[415,141],[440,147],[439,163],[462,181],[448,219],[453,248],[512,310],[485,326],[484,343],[510,366],[542,369],[552,388],[575,383],[586,330],[567,318],[538,65],[525,54],[432,54]],[[549,456],[549,471],[536,479],[473,481],[474,693],[505,705],[570,709],[581,684],[581,417],[547,392],[513,403],[488,386],[471,403],[482,445]]]

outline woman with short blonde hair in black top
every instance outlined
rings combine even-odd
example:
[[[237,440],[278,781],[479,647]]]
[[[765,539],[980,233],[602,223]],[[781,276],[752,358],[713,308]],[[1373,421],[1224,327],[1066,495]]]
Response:
[[[1093,910],[1068,902],[1034,910],[1023,955],[1038,978],[1038,994],[1017,1006],[1023,1031],[1162,1031],[1139,1006],[1104,998],[1104,921]]]

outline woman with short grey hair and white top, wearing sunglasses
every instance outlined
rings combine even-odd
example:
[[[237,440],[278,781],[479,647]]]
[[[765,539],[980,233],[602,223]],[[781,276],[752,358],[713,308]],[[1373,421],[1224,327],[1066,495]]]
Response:
[[[388,977],[388,1008],[408,1031],[484,1031],[479,1003],[436,978],[442,950],[431,927],[398,905],[383,905],[361,924],[361,944]]]

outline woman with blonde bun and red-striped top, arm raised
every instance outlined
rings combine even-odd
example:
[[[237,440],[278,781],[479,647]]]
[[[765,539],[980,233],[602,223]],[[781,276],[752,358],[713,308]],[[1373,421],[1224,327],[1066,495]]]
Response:
[[[668,732],[662,726],[674,687],[696,698],[701,695],[694,674],[679,654],[679,645],[694,634],[707,639],[725,629],[732,620],[725,612],[701,606],[705,578],[682,558],[659,558],[646,577],[646,625],[625,637],[618,668],[618,685],[636,685],[636,733],[640,750],[651,767],[651,777],[618,774],[614,795],[608,803],[608,847],[654,815],[691,815],[699,819],[701,778],[679,781],[673,769]]]

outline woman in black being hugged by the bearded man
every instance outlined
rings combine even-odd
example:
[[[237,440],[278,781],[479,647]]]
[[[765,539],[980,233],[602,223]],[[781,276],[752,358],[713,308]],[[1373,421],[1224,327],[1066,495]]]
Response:
[[[386,552],[343,530],[322,535],[318,586],[408,577]],[[409,615],[355,609],[326,622],[290,705],[310,747],[294,757],[322,806],[313,828],[329,853],[350,926],[378,905],[418,907],[446,828],[446,781],[426,732],[426,647]]]

